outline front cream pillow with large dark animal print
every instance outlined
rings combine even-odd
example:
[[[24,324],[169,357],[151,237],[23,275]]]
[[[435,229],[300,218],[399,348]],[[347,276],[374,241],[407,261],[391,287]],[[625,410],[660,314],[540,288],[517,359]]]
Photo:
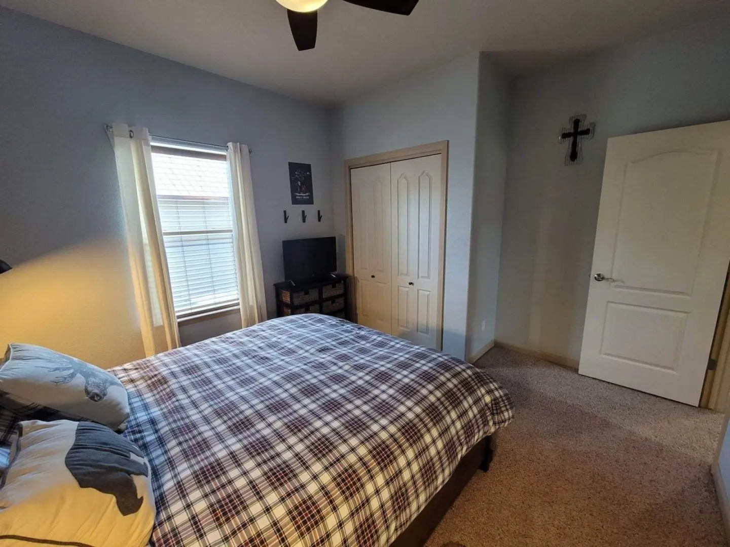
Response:
[[[18,424],[0,480],[0,543],[144,547],[154,521],[150,466],[126,438],[92,422]]]

